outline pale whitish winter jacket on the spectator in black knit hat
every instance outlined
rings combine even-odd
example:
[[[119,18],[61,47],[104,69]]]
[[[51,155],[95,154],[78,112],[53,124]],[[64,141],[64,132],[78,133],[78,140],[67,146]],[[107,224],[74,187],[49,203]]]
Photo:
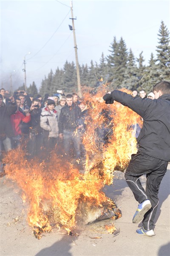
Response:
[[[45,131],[49,131],[48,138],[58,137],[58,116],[57,111],[54,110],[52,113],[49,111],[48,107],[41,112],[40,116],[40,126]]]

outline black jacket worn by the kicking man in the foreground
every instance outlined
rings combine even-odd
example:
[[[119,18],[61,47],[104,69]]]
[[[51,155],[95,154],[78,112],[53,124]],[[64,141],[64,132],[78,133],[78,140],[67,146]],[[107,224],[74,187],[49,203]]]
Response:
[[[114,90],[111,97],[143,118],[143,127],[137,138],[138,150],[148,156],[170,161],[170,94],[158,99],[141,99]]]

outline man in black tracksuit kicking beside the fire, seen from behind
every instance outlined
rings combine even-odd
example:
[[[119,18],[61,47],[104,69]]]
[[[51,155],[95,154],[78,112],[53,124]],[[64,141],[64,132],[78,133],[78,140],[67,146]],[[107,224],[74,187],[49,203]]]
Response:
[[[142,228],[136,232],[146,236],[155,235],[153,228],[159,203],[159,186],[170,161],[170,83],[157,83],[153,87],[153,93],[154,100],[132,97],[119,90],[103,97],[106,104],[116,100],[143,118],[143,127],[137,138],[139,149],[137,154],[131,156],[125,179],[139,202],[133,223],[142,221]],[[142,175],[147,177],[145,190],[139,180]]]

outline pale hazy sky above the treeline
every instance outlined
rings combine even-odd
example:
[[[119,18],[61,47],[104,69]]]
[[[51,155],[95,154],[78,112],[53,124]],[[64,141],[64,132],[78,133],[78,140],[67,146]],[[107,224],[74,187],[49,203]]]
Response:
[[[122,37],[136,58],[143,51],[145,64],[156,55],[161,20],[170,31],[170,0],[73,1],[79,64],[99,63],[109,54],[113,37]],[[0,82],[9,89],[23,85],[26,58],[27,86],[39,88],[52,69],[74,61],[70,1],[0,0]],[[27,54],[31,52],[31,54]],[[15,72],[13,72],[15,70]]]

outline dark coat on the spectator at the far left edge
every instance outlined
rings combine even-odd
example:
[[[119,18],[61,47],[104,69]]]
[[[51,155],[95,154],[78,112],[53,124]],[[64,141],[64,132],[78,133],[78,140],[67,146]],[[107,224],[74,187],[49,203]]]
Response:
[[[10,105],[6,106],[5,103],[3,103],[0,106],[0,138],[4,139],[7,137],[14,136],[14,132],[11,127],[11,120],[10,116],[15,113],[17,110],[17,104],[16,102],[10,103]]]

